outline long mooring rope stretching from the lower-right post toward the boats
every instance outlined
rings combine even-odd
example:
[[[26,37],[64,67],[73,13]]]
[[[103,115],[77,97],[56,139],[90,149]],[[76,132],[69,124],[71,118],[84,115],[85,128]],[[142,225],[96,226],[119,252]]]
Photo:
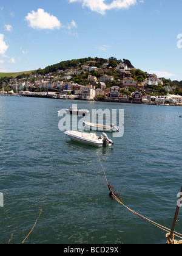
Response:
[[[98,158],[99,158],[99,156],[98,156]],[[109,182],[108,182],[107,176],[106,176],[106,172],[105,172],[105,170],[104,170],[104,167],[103,167],[103,164],[101,163],[100,158],[99,158],[99,163],[100,163],[100,165],[101,165],[101,167],[102,167],[102,169],[103,169],[103,172],[104,172],[104,177],[105,177],[106,182],[107,182],[107,187],[109,188],[109,191],[110,191],[110,194],[109,194],[110,197],[112,197],[113,199],[115,199],[115,201],[119,202],[121,205],[123,205],[125,208],[127,208],[127,210],[129,210],[130,212],[132,212],[132,213],[135,214],[136,216],[140,217],[141,219],[144,219],[144,221],[147,221],[147,222],[149,222],[150,224],[152,224],[153,226],[158,227],[159,229],[164,230],[165,232],[167,232],[167,234],[166,234],[166,240],[167,240],[168,243],[171,243],[171,242],[169,241],[169,234],[170,234],[169,232],[170,232],[170,229],[168,229],[167,227],[161,226],[161,225],[158,224],[157,222],[154,222],[154,221],[151,221],[150,219],[147,219],[146,217],[140,215],[139,213],[136,213],[135,211],[133,211],[132,209],[130,209],[129,207],[127,207],[126,205],[124,205],[123,202],[121,202],[121,200],[118,198],[118,196],[116,196],[115,193],[113,193],[112,188],[111,188],[110,185],[109,185]],[[174,235],[177,236],[178,238],[182,239],[182,235],[181,235],[180,233],[174,231]],[[175,241],[176,241],[176,240],[172,239],[172,243],[175,243]],[[177,243],[182,243],[182,241],[177,241]]]

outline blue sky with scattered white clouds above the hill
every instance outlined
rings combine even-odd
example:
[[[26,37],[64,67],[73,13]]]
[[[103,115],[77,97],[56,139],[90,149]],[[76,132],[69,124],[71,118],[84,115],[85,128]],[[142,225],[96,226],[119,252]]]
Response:
[[[181,10],[181,0],[2,0],[0,72],[116,57],[182,80]]]

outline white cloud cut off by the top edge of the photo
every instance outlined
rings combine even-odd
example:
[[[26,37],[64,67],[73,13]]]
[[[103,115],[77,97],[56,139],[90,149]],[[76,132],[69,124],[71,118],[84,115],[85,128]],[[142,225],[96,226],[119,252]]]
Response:
[[[81,2],[83,7],[88,7],[93,12],[106,14],[107,10],[128,9],[130,6],[136,4],[136,0],[112,0],[110,4],[105,3],[106,0],[69,0],[72,2]]]

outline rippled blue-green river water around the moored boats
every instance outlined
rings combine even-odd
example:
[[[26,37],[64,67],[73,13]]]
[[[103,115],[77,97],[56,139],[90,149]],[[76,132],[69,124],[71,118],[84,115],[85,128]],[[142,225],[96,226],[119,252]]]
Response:
[[[107,133],[114,145],[102,148],[66,138],[57,112],[72,104],[123,109],[123,137]],[[166,243],[166,232],[109,198],[106,177],[123,204],[170,229],[182,185],[181,114],[181,107],[0,96],[0,243],[21,243],[36,219],[24,243]]]

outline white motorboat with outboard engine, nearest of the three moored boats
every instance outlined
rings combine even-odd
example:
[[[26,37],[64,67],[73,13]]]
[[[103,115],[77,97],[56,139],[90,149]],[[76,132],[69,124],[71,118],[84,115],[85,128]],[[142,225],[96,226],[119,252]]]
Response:
[[[75,140],[84,144],[93,145],[96,147],[113,145],[112,140],[109,140],[109,138],[107,138],[106,133],[101,133],[100,137],[96,136],[96,133],[80,132],[77,130],[67,130],[64,133],[72,140]]]

